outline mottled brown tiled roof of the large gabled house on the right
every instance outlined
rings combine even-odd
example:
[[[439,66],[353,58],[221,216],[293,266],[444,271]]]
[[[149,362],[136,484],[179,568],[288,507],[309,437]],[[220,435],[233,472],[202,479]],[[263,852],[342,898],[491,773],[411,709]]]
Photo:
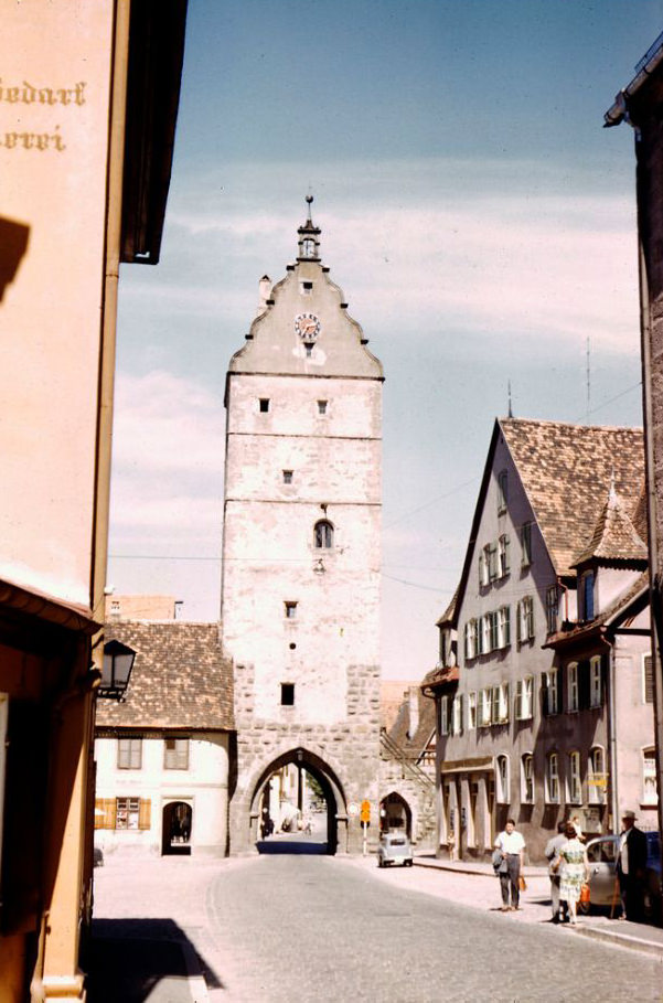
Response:
[[[522,418],[499,425],[557,574],[569,574],[592,538],[612,477],[634,514],[644,479],[642,429]]]

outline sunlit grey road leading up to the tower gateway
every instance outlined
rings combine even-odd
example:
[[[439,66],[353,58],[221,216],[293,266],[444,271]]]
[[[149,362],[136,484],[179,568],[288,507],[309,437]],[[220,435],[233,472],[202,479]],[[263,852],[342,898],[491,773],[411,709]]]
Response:
[[[118,867],[99,873],[96,916],[118,932],[121,917],[169,917],[211,1003],[663,1000],[659,959],[413,890],[418,868],[279,854]],[[132,999],[180,999],[159,985],[161,995]]]

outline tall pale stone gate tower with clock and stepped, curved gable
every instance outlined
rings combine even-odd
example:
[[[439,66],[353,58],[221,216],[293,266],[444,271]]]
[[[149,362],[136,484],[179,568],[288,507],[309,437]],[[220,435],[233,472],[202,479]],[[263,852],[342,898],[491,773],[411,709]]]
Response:
[[[227,374],[222,630],[235,664],[231,852],[254,846],[269,777],[327,797],[330,852],[377,831],[382,365],[299,227],[297,262]],[[350,809],[350,810],[349,810]]]

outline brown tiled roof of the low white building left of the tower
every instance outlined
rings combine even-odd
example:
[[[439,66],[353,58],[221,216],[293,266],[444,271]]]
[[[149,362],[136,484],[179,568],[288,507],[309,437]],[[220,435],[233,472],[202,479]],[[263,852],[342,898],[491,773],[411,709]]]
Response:
[[[107,623],[104,637],[137,654],[125,703],[97,701],[97,727],[235,727],[233,668],[218,623],[128,620]]]

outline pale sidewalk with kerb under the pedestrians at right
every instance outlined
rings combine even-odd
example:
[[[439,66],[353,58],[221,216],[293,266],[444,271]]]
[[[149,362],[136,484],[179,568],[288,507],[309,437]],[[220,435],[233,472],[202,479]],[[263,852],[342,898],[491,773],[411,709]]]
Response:
[[[468,906],[481,907],[485,905],[486,896],[493,899],[498,896],[494,884],[474,882],[480,878],[491,878],[495,883],[492,864],[474,861],[447,861],[438,860],[432,854],[415,856],[415,866],[434,872],[446,872],[457,875],[459,881],[445,888],[443,897]],[[524,922],[545,922],[550,919],[550,893],[547,867],[526,866],[523,875],[527,882],[527,890],[523,892],[521,901],[522,911],[513,916]],[[464,877],[464,881],[462,877]],[[464,886],[464,887],[463,887]],[[479,890],[481,888],[481,890]],[[439,893],[438,893],[439,894]],[[511,917],[511,914],[509,914]],[[579,916],[575,928],[564,925],[560,930],[602,940],[617,947],[643,951],[663,959],[663,929],[649,924],[629,922],[628,920],[610,919],[607,914]]]

